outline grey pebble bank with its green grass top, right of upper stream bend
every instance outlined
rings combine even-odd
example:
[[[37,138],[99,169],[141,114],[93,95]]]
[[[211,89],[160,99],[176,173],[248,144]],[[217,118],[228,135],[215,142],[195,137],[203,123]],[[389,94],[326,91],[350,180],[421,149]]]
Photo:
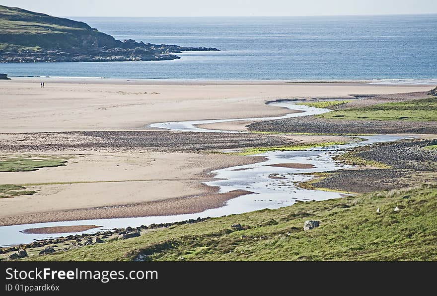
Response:
[[[425,97],[425,92],[373,96],[337,105],[331,112],[255,122],[247,128],[290,134],[436,134],[437,99]]]

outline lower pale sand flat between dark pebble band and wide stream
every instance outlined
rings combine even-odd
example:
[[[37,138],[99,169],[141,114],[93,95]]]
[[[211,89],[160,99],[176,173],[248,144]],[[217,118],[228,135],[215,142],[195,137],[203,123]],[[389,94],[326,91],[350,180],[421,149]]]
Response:
[[[25,224],[35,219],[111,217],[111,214],[121,217],[132,216],[131,213],[165,215],[175,210],[176,205],[169,205],[170,212],[165,212],[161,210],[165,206],[155,210],[157,205],[150,207],[147,202],[183,197],[198,197],[199,205],[188,203],[193,211],[204,206],[209,208],[210,205],[201,205],[204,201],[210,204],[211,194],[217,192],[216,188],[203,184],[214,178],[209,172],[263,160],[262,157],[182,152],[48,153],[68,156],[68,163],[32,172],[0,172],[1,184],[25,184],[26,190],[37,192],[31,196],[1,198],[0,225]],[[141,204],[142,210],[124,207],[132,204]],[[188,211],[188,204],[184,204],[182,212]],[[88,209],[93,209],[91,214],[84,214]],[[120,214],[121,211],[126,213]],[[46,214],[48,212],[50,214]],[[47,215],[58,220],[43,218]]]

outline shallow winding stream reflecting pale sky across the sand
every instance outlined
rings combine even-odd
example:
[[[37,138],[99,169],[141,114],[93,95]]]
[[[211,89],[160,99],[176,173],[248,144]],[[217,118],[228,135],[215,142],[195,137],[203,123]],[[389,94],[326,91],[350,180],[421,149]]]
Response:
[[[199,124],[217,123],[227,121],[246,121],[246,120],[274,120],[281,118],[290,118],[297,116],[306,116],[329,112],[329,109],[307,107],[296,105],[291,101],[282,101],[270,103],[272,106],[286,107],[301,112],[290,113],[278,117],[265,118],[239,118],[239,119],[218,119],[218,120],[194,120],[183,122],[163,122],[151,124],[151,127],[165,128],[176,131],[197,131],[197,132],[235,132],[224,130],[209,130],[196,127]],[[304,182],[313,177],[307,173],[336,171],[349,167],[334,161],[334,155],[344,153],[348,148],[369,145],[373,143],[396,141],[408,137],[393,135],[374,135],[361,136],[364,141],[333,145],[328,147],[318,147],[303,151],[272,151],[258,154],[266,158],[265,161],[230,167],[213,171],[216,174],[216,180],[206,183],[209,186],[218,186],[220,193],[226,193],[233,190],[246,190],[252,194],[230,199],[226,204],[219,208],[208,209],[203,212],[194,214],[169,215],[169,216],[148,216],[136,218],[113,218],[113,219],[93,219],[80,221],[61,221],[48,223],[33,223],[0,227],[0,245],[7,246],[12,244],[30,243],[37,239],[46,239],[50,237],[60,237],[76,233],[60,233],[56,235],[48,234],[26,234],[22,231],[28,228],[37,227],[54,227],[68,225],[99,225],[100,228],[94,228],[79,233],[94,233],[101,230],[113,228],[126,228],[128,226],[138,227],[153,223],[171,223],[188,219],[197,219],[198,217],[218,217],[222,215],[238,214],[264,208],[279,208],[289,206],[297,200],[324,200],[330,198],[339,198],[344,195],[336,192],[325,192],[317,190],[306,190],[296,186],[296,183]],[[287,168],[272,167],[272,164],[307,164],[310,168]]]

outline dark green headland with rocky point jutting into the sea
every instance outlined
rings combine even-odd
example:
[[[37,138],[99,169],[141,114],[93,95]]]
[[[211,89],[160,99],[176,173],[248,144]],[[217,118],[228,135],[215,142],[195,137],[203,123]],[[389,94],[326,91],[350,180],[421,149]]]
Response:
[[[183,51],[218,51],[116,40],[88,24],[0,5],[0,63],[160,61]]]

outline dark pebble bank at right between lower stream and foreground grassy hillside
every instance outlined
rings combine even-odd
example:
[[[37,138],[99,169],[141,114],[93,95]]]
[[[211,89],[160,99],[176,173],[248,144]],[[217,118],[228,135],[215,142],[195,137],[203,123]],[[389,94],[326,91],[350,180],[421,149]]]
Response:
[[[403,140],[353,149],[353,157],[376,161],[387,168],[343,169],[310,181],[315,188],[354,193],[393,190],[426,183],[437,185],[437,140]],[[306,186],[305,184],[303,184]]]

